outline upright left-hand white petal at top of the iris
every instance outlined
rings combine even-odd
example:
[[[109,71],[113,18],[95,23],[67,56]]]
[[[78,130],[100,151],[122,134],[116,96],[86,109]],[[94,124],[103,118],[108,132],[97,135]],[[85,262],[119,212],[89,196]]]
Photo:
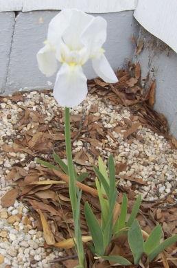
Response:
[[[64,31],[69,27],[72,10],[62,10],[49,23],[47,40],[56,46]]]

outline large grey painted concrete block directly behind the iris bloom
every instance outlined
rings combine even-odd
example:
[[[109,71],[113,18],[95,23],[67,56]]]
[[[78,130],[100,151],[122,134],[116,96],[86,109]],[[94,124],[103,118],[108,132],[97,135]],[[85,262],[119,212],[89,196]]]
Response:
[[[47,38],[47,27],[57,11],[19,12],[14,27],[14,38],[10,54],[10,66],[6,93],[19,89],[51,89],[56,75],[46,78],[38,70],[36,53]],[[121,67],[125,58],[131,58],[132,33],[138,33],[132,11],[102,14],[108,21],[108,38],[104,45],[106,56],[114,69]],[[95,14],[97,15],[97,14]],[[84,67],[88,78],[96,76],[91,64]]]

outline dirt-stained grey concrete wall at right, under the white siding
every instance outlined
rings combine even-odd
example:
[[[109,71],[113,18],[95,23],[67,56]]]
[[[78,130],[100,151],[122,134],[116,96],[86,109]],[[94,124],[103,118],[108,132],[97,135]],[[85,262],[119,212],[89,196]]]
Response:
[[[154,108],[168,120],[171,133],[177,138],[177,54],[162,41],[140,28],[139,39],[144,49],[135,61],[140,61],[142,76],[156,79]]]

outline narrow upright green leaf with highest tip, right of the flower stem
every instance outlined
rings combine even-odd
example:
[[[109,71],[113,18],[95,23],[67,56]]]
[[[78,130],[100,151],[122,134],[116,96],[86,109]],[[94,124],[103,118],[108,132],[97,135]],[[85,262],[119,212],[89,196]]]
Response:
[[[109,156],[108,159],[108,166],[109,166],[109,200],[112,199],[113,194],[115,194],[116,188],[115,188],[115,163],[113,159],[113,155]]]

